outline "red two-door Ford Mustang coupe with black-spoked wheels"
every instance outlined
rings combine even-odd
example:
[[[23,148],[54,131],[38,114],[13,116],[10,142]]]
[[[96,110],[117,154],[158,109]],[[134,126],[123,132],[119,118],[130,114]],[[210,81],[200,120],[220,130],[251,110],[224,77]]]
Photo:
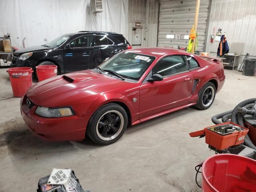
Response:
[[[21,99],[29,129],[44,140],[118,140],[129,124],[195,105],[208,109],[225,81],[218,58],[170,48],[116,54],[91,70],[34,84]]]

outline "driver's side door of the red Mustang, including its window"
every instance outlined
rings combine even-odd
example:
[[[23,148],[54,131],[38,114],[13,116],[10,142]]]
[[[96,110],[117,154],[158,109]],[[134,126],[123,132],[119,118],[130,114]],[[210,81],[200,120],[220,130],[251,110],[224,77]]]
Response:
[[[150,74],[160,74],[162,81],[142,82],[140,88],[140,118],[188,104],[193,89],[193,75],[184,55],[162,58]]]

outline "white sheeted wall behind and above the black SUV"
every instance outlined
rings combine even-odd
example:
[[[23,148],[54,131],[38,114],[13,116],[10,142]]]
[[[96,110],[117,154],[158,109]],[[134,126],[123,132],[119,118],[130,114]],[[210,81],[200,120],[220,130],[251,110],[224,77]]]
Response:
[[[128,0],[103,0],[103,12],[92,14],[90,0],[1,0],[0,36],[10,33],[12,45],[45,44],[61,34],[80,30],[114,31],[128,36]]]

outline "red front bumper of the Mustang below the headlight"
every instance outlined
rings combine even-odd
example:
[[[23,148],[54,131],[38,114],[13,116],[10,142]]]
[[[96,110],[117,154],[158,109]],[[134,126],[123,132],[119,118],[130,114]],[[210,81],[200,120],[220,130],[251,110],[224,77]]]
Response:
[[[90,116],[80,118],[70,116],[63,118],[44,118],[35,114],[37,106],[31,109],[26,105],[24,97],[21,99],[20,111],[29,130],[41,138],[49,141],[78,141],[85,138],[85,131]]]

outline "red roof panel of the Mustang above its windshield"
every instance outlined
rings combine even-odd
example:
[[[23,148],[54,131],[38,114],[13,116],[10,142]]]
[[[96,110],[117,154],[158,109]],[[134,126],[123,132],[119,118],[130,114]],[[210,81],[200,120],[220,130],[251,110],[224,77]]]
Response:
[[[125,50],[125,52],[136,52],[138,54],[145,54],[154,57],[159,57],[165,54],[180,54],[185,51],[173,48],[164,48],[164,47],[145,47],[145,48],[132,48]]]

